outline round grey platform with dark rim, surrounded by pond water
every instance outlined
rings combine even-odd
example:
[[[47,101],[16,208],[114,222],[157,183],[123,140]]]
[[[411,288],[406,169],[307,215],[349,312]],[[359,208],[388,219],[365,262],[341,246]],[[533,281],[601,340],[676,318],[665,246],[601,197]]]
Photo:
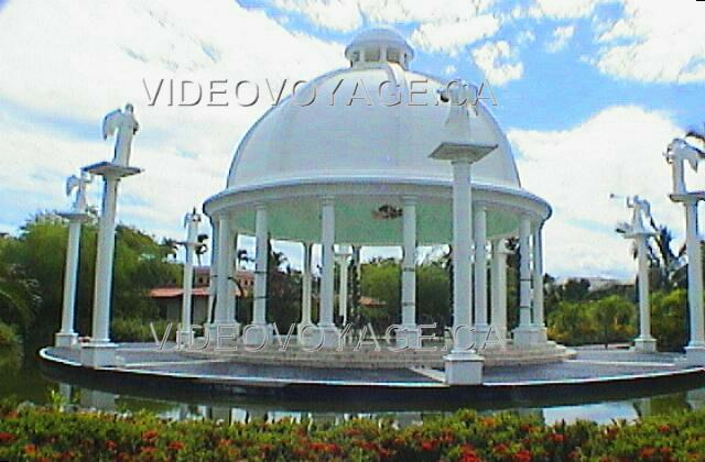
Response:
[[[705,385],[705,369],[688,367],[676,353],[579,348],[573,359],[549,364],[487,366],[484,383],[448,386],[434,367],[306,367],[254,364],[231,358],[194,358],[174,345],[120,344],[121,364],[84,367],[80,349],[40,351],[51,377],[116,393],[154,396],[268,397],[330,403],[399,403],[447,408],[482,403],[570,404],[590,399],[650,396]]]

